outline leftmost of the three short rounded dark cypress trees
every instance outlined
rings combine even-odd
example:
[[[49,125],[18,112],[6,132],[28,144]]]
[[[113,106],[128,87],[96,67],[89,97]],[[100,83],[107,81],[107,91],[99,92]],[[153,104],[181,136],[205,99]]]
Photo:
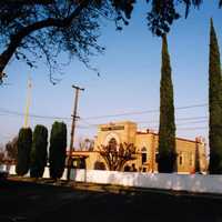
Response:
[[[32,131],[30,128],[22,128],[18,138],[18,158],[16,172],[18,175],[24,175],[30,167],[30,152],[32,144]]]

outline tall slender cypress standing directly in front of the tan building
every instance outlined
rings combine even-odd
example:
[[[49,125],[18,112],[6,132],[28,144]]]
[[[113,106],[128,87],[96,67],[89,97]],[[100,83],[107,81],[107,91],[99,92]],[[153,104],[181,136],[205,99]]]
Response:
[[[160,82],[160,125],[159,125],[159,172],[170,173],[175,162],[175,123],[173,104],[173,84],[171,79],[170,56],[167,36],[162,37],[162,67]]]

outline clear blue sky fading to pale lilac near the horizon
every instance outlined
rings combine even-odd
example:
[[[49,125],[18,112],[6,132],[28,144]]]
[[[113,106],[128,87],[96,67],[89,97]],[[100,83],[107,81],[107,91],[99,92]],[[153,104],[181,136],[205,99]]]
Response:
[[[211,3],[209,3],[211,2]],[[73,61],[65,67],[62,81],[52,85],[44,64],[31,70],[16,60],[7,68],[9,85],[0,87],[0,143],[16,135],[23,125],[24,118],[6,114],[2,110],[24,112],[27,80],[32,78],[30,113],[63,117],[70,133],[73,109],[72,84],[85,88],[80,94],[77,140],[97,134],[97,124],[118,120],[139,122],[139,129],[158,130],[159,88],[161,69],[161,39],[153,37],[145,24],[147,4],[138,4],[130,26],[118,32],[114,24],[104,22],[100,43],[105,53],[92,58],[91,64],[100,70],[101,77]],[[222,49],[222,9],[218,1],[205,1],[200,10],[192,10],[189,18],[180,19],[168,37],[174,84],[176,134],[194,139],[208,138],[208,58],[209,27],[213,17],[219,44]],[[62,58],[61,58],[62,60]],[[57,75],[56,73],[56,77]],[[151,110],[151,111],[150,111]],[[154,111],[153,111],[154,110]],[[143,112],[150,111],[150,112]],[[129,112],[139,114],[115,115]],[[31,127],[49,127],[56,119],[31,118]]]

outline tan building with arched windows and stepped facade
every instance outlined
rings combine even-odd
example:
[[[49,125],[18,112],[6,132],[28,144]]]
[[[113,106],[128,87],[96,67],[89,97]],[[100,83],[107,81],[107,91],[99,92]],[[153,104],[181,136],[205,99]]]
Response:
[[[158,172],[158,133],[151,130],[139,131],[135,122],[101,124],[98,127],[98,134],[91,151],[73,151],[73,164],[75,168],[88,170],[108,170],[108,165],[100,154],[100,148],[108,145],[110,141],[114,141],[117,144],[132,143],[135,148],[134,160],[128,161],[121,169],[122,171],[128,169],[138,172]],[[195,140],[176,138],[175,144],[175,171],[178,173],[195,173],[196,168],[201,172],[206,172],[205,142],[202,138],[195,138]]]

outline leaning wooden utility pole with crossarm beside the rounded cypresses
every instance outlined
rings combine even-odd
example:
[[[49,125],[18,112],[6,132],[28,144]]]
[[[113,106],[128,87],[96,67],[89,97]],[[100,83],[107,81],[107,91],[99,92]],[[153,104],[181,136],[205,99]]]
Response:
[[[75,95],[74,95],[74,108],[73,108],[73,114],[72,114],[72,125],[71,125],[71,138],[70,138],[70,149],[69,149],[69,159],[68,159],[68,172],[67,172],[67,180],[70,180],[70,172],[71,172],[71,167],[72,167],[72,151],[73,151],[73,142],[74,142],[74,130],[75,130],[75,124],[77,120],[79,117],[77,115],[77,109],[78,109],[78,100],[79,100],[79,93],[80,91],[84,91],[83,88],[79,88],[77,85],[72,85],[75,90]]]

